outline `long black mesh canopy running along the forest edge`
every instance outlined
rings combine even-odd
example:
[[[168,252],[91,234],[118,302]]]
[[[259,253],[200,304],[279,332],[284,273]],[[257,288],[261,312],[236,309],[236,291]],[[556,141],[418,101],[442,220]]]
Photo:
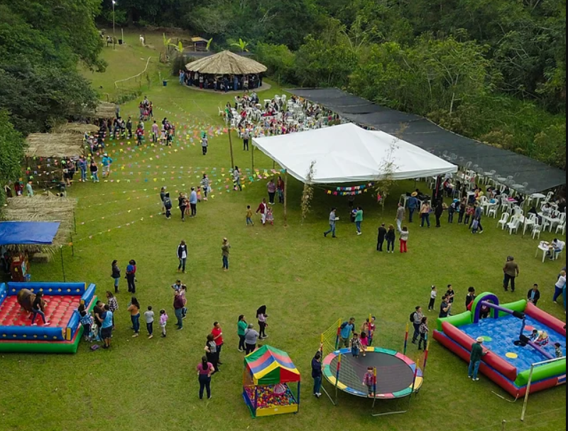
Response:
[[[321,104],[359,126],[397,134],[400,138],[444,157],[457,165],[471,162],[478,172],[496,171],[495,178],[513,177],[508,185],[527,182],[525,192],[535,193],[566,184],[566,173],[537,160],[489,146],[442,129],[431,121],[413,114],[373,104],[337,88],[289,89],[288,92]]]

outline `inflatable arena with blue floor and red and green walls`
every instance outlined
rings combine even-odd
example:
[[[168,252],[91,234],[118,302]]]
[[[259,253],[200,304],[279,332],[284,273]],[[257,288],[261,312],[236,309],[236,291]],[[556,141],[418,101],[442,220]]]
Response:
[[[483,318],[485,317],[485,318]],[[566,383],[566,325],[526,300],[500,305],[496,295],[483,293],[471,311],[438,319],[434,338],[469,362],[474,340],[488,349],[480,370],[515,398]],[[556,359],[555,344],[562,356]],[[545,362],[545,364],[540,364]]]

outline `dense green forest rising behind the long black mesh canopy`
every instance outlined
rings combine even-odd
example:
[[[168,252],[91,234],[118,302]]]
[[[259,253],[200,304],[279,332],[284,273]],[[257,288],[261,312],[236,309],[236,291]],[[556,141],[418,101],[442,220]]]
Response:
[[[281,82],[341,87],[566,168],[564,0],[124,0],[119,10],[121,23],[179,26],[217,48],[243,38]]]

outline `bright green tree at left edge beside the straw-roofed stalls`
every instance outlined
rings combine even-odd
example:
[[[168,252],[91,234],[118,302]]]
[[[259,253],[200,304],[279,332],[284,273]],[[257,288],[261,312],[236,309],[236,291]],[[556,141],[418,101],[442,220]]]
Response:
[[[8,111],[0,109],[0,208],[4,206],[4,185],[21,177],[23,137],[13,128]]]

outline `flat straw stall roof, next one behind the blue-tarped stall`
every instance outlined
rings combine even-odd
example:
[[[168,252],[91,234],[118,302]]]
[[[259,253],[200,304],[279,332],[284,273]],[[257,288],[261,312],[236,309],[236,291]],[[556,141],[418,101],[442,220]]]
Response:
[[[26,138],[26,157],[77,157],[84,151],[78,133],[31,133]]]

